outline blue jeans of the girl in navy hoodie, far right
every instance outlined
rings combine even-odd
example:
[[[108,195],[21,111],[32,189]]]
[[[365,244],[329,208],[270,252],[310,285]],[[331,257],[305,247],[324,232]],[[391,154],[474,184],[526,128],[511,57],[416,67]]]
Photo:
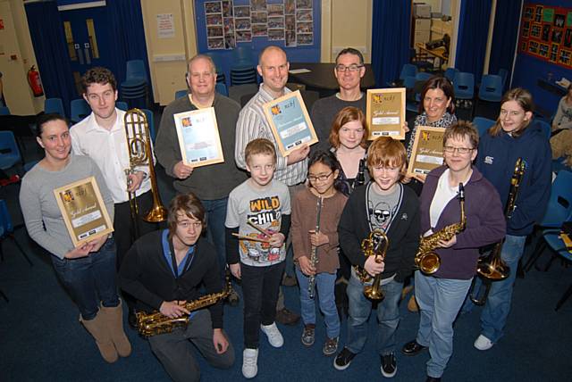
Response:
[[[522,253],[525,250],[526,237],[507,235],[502,245],[501,259],[510,267],[508,278],[494,281],[491,291],[481,314],[481,334],[497,343],[503,335],[503,329],[509,316],[510,303],[512,301],[512,287],[517,278],[517,267]],[[480,282],[475,282],[475,290]]]

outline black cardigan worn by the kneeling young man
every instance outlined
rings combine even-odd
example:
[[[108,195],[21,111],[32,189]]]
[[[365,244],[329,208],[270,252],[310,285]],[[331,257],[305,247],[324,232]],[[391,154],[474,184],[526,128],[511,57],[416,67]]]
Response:
[[[189,269],[175,278],[165,261],[162,245],[163,230],[140,237],[125,255],[119,271],[121,288],[137,298],[137,309],[158,310],[164,301],[192,301],[200,297],[204,283],[206,294],[223,290],[214,246],[200,237]],[[223,328],[222,300],[209,306],[213,328]]]

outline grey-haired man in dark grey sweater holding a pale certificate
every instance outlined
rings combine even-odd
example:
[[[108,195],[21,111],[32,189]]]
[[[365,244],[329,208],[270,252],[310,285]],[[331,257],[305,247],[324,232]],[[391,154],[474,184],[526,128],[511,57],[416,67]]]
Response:
[[[157,160],[167,175],[174,178],[172,185],[178,193],[197,195],[206,209],[207,238],[216,248],[224,279],[226,249],[224,220],[228,195],[246,179],[246,174],[236,168],[234,158],[234,132],[239,118],[240,105],[215,92],[216,69],[213,60],[198,54],[189,60],[187,83],[190,93],[172,101],[165,107],[161,126],[157,133],[155,150]],[[194,168],[182,162],[181,146],[175,128],[174,115],[180,112],[214,107],[224,162]],[[239,295],[232,293],[228,302],[236,305]]]

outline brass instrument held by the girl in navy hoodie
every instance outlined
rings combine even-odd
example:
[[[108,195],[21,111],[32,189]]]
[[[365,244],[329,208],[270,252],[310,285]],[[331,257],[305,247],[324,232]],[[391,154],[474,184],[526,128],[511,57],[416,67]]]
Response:
[[[504,212],[507,220],[512,217],[512,212],[514,212],[517,207],[518,187],[520,187],[520,183],[525,175],[525,167],[526,165],[522,158],[518,158],[515,163],[515,170],[512,173],[512,178],[510,179],[509,200],[507,201],[507,206],[505,207]],[[473,279],[470,297],[471,301],[475,303],[475,305],[482,306],[486,303],[493,281],[504,280],[510,275],[510,267],[501,259],[503,243],[504,239],[494,245],[491,253],[489,253],[488,256],[480,258],[476,265],[476,274],[484,279],[485,288],[483,296],[478,297],[475,295],[473,290],[475,289],[475,278]]]

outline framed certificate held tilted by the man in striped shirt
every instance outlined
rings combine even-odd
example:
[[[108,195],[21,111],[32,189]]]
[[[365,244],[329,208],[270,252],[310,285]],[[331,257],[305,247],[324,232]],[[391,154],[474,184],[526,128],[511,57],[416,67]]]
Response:
[[[318,141],[299,90],[264,104],[263,109],[282,156]]]

